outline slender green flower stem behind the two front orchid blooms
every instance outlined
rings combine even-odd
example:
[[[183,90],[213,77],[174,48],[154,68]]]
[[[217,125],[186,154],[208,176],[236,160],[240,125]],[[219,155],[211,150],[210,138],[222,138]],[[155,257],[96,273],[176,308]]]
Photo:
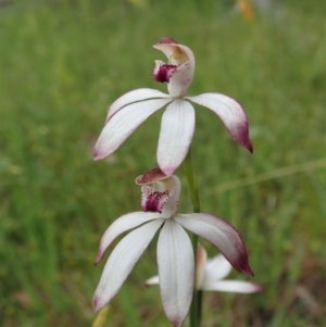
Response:
[[[185,172],[187,177],[187,187],[189,197],[192,203],[193,212],[200,213],[200,201],[199,201],[199,190],[198,184],[196,179],[196,175],[192,167],[192,160],[191,160],[191,148],[188,151],[188,154],[184,161],[185,164]],[[192,249],[195,253],[195,267],[197,266],[197,247],[198,247],[198,236],[192,235],[191,237]],[[190,327],[199,327],[200,319],[201,319],[201,299],[200,292],[196,288],[196,274],[195,274],[195,284],[193,284],[193,294],[192,294],[192,302],[190,306]]]

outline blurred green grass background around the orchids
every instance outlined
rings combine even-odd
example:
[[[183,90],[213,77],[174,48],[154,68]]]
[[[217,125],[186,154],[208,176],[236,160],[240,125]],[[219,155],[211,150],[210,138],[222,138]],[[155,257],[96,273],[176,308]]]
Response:
[[[118,96],[166,90],[150,74],[155,59],[165,60],[152,48],[162,36],[195,52],[190,95],[217,91],[243,105],[254,146],[251,155],[196,108],[202,211],[226,218],[246,241],[255,277],[229,278],[264,287],[206,293],[202,326],[323,325],[325,3],[267,2],[253,5],[249,23],[227,0],[1,1],[1,327],[95,320],[99,240],[116,217],[139,210],[134,179],[156,165],[163,111],[109,159],[93,162],[91,150]],[[176,173],[185,185],[183,168]],[[184,188],[179,212],[190,211]],[[102,326],[170,326],[158,288],[142,288],[155,274],[153,240]]]

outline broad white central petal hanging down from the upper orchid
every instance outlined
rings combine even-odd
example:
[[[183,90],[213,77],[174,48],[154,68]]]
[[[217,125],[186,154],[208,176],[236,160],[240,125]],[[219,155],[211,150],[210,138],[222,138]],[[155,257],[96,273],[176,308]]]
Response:
[[[162,116],[158,147],[158,162],[164,174],[172,175],[184,161],[193,130],[193,106],[183,99],[174,100]]]

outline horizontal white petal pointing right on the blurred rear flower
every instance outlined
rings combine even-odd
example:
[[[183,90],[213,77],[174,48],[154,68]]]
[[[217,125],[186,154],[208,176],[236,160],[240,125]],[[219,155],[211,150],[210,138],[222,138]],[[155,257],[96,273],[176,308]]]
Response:
[[[253,293],[262,290],[259,285],[241,280],[218,280],[211,282],[206,282],[206,280],[204,280],[201,289],[203,291],[223,291],[236,293]]]

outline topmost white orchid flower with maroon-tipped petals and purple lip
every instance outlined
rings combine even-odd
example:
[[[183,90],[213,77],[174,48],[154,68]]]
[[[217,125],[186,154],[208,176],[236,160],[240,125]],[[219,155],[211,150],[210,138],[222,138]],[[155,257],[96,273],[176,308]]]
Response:
[[[158,163],[162,172],[172,175],[189,150],[195,130],[195,110],[190,100],[213,111],[240,146],[252,152],[246,113],[234,99],[221,93],[186,96],[195,72],[192,51],[172,38],[162,38],[154,48],[168,59],[155,61],[153,77],[167,83],[168,95],[141,88],[129,91],[109,108],[105,126],[95,146],[95,160],[114,152],[151,114],[170,103],[162,116],[158,146]]]

